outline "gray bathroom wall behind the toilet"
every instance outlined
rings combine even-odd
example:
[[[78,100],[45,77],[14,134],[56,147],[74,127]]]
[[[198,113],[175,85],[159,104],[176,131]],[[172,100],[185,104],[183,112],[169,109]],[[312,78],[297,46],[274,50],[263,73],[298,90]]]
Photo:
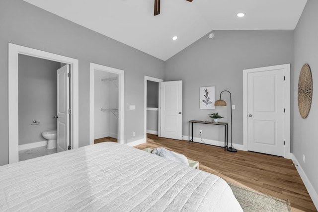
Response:
[[[56,70],[60,66],[19,55],[19,145],[45,141],[42,132],[56,129]],[[33,120],[40,124],[31,125]]]

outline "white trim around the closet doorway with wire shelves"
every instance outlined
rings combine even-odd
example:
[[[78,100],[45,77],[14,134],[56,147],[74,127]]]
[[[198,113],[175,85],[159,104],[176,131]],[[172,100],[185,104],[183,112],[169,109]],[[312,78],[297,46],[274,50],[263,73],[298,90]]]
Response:
[[[94,144],[94,71],[118,74],[118,143],[124,143],[124,71],[89,63],[89,144]]]

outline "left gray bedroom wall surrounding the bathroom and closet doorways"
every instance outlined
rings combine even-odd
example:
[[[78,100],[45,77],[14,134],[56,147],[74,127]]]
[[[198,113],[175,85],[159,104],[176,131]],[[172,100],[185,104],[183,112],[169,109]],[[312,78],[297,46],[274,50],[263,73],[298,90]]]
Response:
[[[0,1],[0,32],[0,165],[8,163],[8,43],[79,60],[79,146],[89,144],[89,63],[124,70],[124,140],[144,138],[144,76],[163,78],[163,61],[22,0]]]

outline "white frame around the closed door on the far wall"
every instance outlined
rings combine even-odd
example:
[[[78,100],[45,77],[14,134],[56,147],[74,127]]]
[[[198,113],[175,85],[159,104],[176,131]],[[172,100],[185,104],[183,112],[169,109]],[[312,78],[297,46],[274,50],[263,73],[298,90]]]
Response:
[[[284,157],[291,159],[291,151],[290,151],[290,64],[283,64],[277,66],[269,66],[269,67],[261,67],[255,69],[246,69],[243,70],[243,150],[247,151],[247,74],[251,72],[260,72],[267,71],[268,69],[284,69],[285,75],[285,83],[284,83],[284,107],[285,107],[285,115],[284,115]]]

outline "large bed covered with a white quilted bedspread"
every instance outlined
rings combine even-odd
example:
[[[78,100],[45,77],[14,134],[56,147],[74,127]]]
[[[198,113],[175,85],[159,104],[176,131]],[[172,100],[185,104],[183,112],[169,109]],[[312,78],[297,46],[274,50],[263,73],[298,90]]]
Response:
[[[0,211],[242,210],[216,175],[103,142],[0,166]]]

